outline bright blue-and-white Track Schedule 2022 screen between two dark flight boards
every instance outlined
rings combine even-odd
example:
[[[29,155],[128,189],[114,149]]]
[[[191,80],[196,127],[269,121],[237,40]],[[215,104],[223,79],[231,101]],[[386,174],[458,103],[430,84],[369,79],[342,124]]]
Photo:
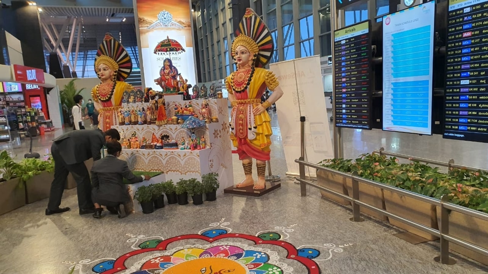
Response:
[[[383,17],[383,130],[432,134],[435,2]]]

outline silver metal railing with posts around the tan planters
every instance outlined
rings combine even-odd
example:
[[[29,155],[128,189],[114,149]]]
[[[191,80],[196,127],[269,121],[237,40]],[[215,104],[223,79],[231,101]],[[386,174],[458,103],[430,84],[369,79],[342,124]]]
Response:
[[[304,160],[305,159],[305,139],[304,139],[305,117],[300,117],[300,122],[301,122],[300,129],[301,129],[301,148],[302,149],[301,149],[300,158],[295,160],[295,162],[298,163],[299,167],[300,167],[300,169],[299,169],[300,170],[300,178],[297,178],[297,180],[300,182],[300,196],[307,196],[306,185],[309,185],[309,186],[317,188],[321,191],[325,191],[329,194],[332,194],[332,195],[338,196],[340,198],[343,198],[347,201],[350,201],[352,204],[352,214],[353,214],[353,217],[350,218],[351,221],[355,221],[355,222],[364,221],[364,219],[361,218],[360,208],[359,208],[360,206],[362,206],[362,207],[365,207],[366,209],[369,209],[371,211],[386,215],[388,218],[393,218],[393,219],[398,220],[402,223],[410,225],[410,226],[412,226],[416,229],[419,229],[421,231],[424,231],[430,235],[438,236],[440,238],[440,256],[435,257],[434,260],[437,262],[440,262],[442,264],[455,264],[456,263],[456,261],[454,259],[449,257],[449,242],[455,243],[455,244],[460,245],[460,246],[467,248],[469,250],[472,250],[472,251],[478,252],[480,254],[483,254],[485,256],[488,256],[488,249],[485,249],[485,248],[478,246],[474,243],[470,243],[468,241],[459,239],[455,236],[449,235],[449,211],[455,211],[455,212],[462,213],[465,215],[469,215],[471,217],[479,218],[479,219],[482,219],[485,221],[488,221],[488,214],[485,214],[485,213],[482,213],[479,211],[475,211],[475,210],[472,210],[472,209],[469,209],[466,207],[462,207],[462,206],[450,203],[450,202],[448,202],[449,197],[447,195],[442,196],[442,198],[439,200],[439,199],[420,195],[420,194],[417,194],[414,192],[410,192],[410,191],[403,190],[403,189],[400,189],[397,187],[393,187],[393,186],[390,186],[390,185],[387,185],[384,183],[379,183],[379,182],[376,182],[373,180],[369,180],[369,179],[360,177],[360,176],[358,176],[358,174],[356,172],[349,174],[349,173],[344,173],[344,172],[340,172],[337,170],[333,170],[330,168],[326,168],[326,167],[323,167],[323,166],[320,166],[317,164],[306,162]],[[381,148],[380,150],[375,150],[373,153],[378,153],[381,155],[387,155],[387,156],[392,156],[392,157],[406,158],[406,159],[411,159],[411,160],[415,160],[415,161],[435,164],[435,165],[439,165],[439,166],[465,168],[465,169],[473,170],[473,171],[483,170],[483,169],[478,169],[478,168],[466,167],[466,166],[462,166],[462,165],[455,165],[454,160],[452,160],[452,159],[449,160],[449,162],[442,162],[442,161],[430,160],[430,159],[426,159],[426,158],[411,157],[408,155],[386,152],[386,151],[384,151],[383,148]],[[306,180],[305,166],[315,168],[317,170],[323,170],[323,171],[326,171],[326,172],[329,172],[329,173],[332,173],[335,175],[344,176],[346,178],[350,178],[352,181],[352,197],[344,195],[344,194],[336,192],[336,191],[333,191],[331,189],[325,188],[325,187],[320,186],[320,185],[318,185],[314,182],[311,182],[309,180]],[[485,171],[487,171],[487,170],[485,170]],[[440,207],[440,213],[441,213],[440,218],[439,218],[440,219],[439,230],[433,229],[431,227],[428,227],[428,226],[423,225],[421,223],[417,223],[417,222],[410,220],[408,218],[404,218],[402,216],[390,213],[386,210],[374,207],[374,206],[369,205],[363,201],[360,201],[359,200],[359,183],[360,182],[368,184],[370,186],[380,188],[382,190],[388,190],[388,191],[391,191],[393,193],[408,196],[408,197],[417,199],[417,200],[422,201],[422,202],[426,202],[426,203],[429,203],[429,204],[432,204],[435,206],[439,206]]]

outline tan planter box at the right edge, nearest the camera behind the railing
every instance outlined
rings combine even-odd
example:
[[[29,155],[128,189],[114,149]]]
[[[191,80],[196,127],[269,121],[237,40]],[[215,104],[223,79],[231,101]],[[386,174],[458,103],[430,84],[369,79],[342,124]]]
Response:
[[[437,207],[437,217],[440,223],[441,207],[439,206]],[[451,211],[449,213],[449,235],[488,249],[488,221]],[[449,243],[449,249],[488,265],[488,256],[454,243]]]

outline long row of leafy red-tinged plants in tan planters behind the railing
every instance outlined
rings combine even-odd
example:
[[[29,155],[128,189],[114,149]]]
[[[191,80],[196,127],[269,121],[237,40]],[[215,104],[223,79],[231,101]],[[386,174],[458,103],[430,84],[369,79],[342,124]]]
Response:
[[[451,168],[441,172],[439,167],[431,167],[418,161],[408,159],[401,163],[395,157],[379,154],[363,154],[357,159],[327,159],[320,164],[345,173],[357,172],[358,176],[405,189],[424,196],[440,199],[443,195],[450,197],[450,202],[488,213],[488,174],[484,171]],[[318,183],[345,195],[352,196],[352,182],[344,176],[333,175],[325,171],[317,171]],[[324,195],[324,193],[323,193]],[[330,197],[328,195],[324,195]],[[439,207],[408,196],[399,195],[365,183],[359,183],[361,201],[377,208],[385,209],[426,226],[438,229]],[[344,201],[334,200],[346,203]],[[386,216],[361,211],[386,220]],[[436,237],[415,229],[404,223],[389,219],[392,225],[405,229],[416,235],[434,240]],[[488,248],[488,222],[461,213],[451,212],[449,215],[449,234],[463,240]],[[468,251],[451,244],[451,249],[465,254],[475,260],[488,264],[488,257]]]

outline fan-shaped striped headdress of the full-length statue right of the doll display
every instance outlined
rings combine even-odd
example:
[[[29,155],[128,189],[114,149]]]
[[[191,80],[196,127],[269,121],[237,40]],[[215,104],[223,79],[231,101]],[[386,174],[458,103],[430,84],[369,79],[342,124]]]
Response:
[[[274,42],[268,27],[263,20],[250,8],[247,8],[239,28],[235,32],[236,39],[232,42],[232,57],[236,48],[245,46],[256,54],[256,67],[264,67],[273,55]]]

